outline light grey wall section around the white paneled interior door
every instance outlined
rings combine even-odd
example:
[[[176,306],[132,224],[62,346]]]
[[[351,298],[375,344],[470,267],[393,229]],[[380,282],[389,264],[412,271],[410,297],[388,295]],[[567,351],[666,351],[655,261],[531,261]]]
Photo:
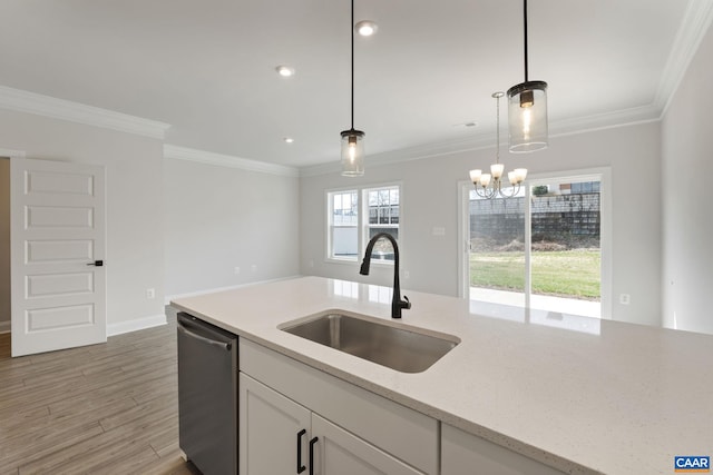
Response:
[[[163,142],[0,110],[0,148],[107,170],[107,323],[164,314]],[[147,299],[146,289],[156,298]]]

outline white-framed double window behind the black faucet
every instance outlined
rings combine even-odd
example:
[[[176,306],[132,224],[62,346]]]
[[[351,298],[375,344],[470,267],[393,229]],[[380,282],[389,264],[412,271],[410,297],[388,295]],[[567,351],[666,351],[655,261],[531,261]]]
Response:
[[[398,240],[400,215],[398,185],[328,192],[328,258],[358,260],[379,232],[388,232]],[[372,259],[392,263],[391,243],[377,243]]]

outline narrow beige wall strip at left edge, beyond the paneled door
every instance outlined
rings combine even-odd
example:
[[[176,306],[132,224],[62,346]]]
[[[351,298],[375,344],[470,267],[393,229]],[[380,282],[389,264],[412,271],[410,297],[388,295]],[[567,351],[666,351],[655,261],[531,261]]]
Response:
[[[0,331],[10,321],[10,160],[0,157]]]

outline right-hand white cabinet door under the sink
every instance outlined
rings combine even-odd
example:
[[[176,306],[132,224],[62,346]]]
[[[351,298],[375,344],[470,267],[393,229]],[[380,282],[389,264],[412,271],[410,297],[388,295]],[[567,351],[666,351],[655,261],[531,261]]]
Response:
[[[423,475],[398,458],[312,414],[315,474],[319,475]]]

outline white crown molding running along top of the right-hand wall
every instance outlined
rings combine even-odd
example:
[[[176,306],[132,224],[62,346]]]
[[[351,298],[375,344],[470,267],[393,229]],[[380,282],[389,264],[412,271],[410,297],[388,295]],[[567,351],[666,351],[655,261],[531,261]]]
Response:
[[[668,109],[711,23],[713,23],[713,0],[691,0],[678,27],[654,99],[660,117],[663,117]]]

